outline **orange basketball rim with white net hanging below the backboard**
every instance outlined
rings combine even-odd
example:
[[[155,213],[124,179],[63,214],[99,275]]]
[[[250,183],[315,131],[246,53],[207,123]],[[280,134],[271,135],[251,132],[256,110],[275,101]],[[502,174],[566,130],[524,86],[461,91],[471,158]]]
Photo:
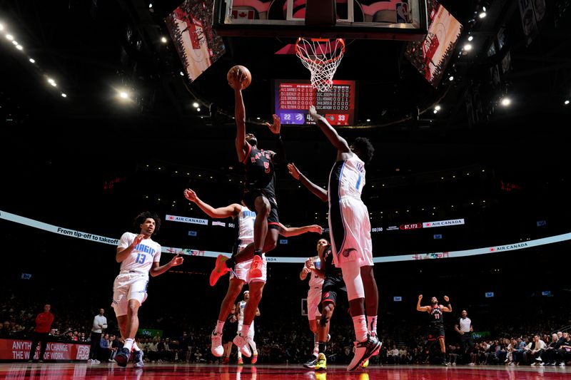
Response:
[[[311,73],[311,85],[317,91],[329,91],[333,87],[333,76],[345,53],[345,41],[337,38],[298,38],[295,54]]]

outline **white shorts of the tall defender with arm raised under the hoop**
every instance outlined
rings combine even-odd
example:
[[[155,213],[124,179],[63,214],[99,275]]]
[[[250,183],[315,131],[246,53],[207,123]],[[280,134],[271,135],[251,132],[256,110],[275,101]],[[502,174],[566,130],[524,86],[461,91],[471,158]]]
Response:
[[[336,267],[343,269],[345,265],[373,265],[369,212],[363,201],[344,197],[332,204],[329,209],[329,231]]]

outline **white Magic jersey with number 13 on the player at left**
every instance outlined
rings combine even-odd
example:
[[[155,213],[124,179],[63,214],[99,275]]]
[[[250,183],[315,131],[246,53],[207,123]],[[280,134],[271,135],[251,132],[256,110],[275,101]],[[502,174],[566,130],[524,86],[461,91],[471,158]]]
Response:
[[[118,248],[126,248],[133,244],[137,235],[125,232],[119,240]],[[148,273],[153,262],[161,261],[161,245],[151,238],[141,240],[131,254],[121,262],[121,271]]]

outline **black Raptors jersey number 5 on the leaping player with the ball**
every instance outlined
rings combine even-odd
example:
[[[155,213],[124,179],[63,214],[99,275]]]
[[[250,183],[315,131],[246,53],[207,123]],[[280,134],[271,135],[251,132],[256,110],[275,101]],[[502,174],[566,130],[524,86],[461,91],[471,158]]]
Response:
[[[242,161],[246,166],[244,191],[264,190],[268,195],[276,195],[276,175],[272,162],[273,152],[260,150],[248,144],[248,153]]]

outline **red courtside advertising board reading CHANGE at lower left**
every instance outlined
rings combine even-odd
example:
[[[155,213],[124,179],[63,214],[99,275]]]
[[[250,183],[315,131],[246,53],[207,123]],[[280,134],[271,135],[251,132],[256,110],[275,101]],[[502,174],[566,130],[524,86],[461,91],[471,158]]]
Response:
[[[28,360],[31,342],[20,339],[0,339],[0,360]],[[39,348],[34,359],[39,359]],[[87,360],[89,344],[48,342],[44,360]]]

